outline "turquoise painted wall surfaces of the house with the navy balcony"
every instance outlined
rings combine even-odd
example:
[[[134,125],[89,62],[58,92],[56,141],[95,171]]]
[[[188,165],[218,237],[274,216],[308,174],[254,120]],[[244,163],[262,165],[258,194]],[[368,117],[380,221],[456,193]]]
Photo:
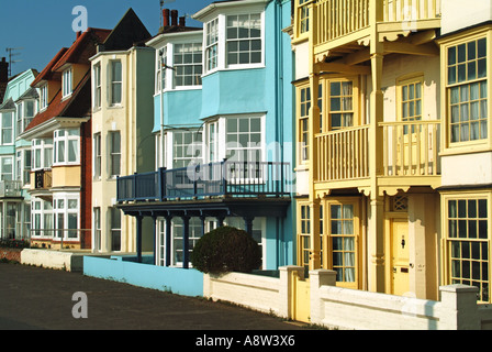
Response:
[[[293,170],[293,59],[290,0],[270,1],[265,14],[265,67],[225,69],[206,75],[202,89],[164,94],[165,125],[201,125],[203,119],[236,113],[266,113],[267,160],[289,162]],[[160,96],[154,98],[154,132],[160,129]],[[291,175],[294,175],[293,172]],[[294,191],[294,190],[293,190]],[[287,218],[267,219],[267,270],[294,263],[294,202]]]

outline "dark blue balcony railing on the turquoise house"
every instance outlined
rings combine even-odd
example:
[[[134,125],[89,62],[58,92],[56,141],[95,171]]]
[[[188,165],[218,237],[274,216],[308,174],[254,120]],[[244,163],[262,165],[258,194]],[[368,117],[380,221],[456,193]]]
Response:
[[[134,174],[118,178],[118,201],[288,197],[292,187],[289,163],[231,162]]]

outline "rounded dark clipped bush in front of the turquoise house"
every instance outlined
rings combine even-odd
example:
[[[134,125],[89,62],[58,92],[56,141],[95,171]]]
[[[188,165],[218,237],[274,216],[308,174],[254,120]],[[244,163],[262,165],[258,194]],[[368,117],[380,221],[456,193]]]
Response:
[[[202,273],[249,273],[260,267],[261,250],[246,231],[221,227],[197,242],[190,261]]]

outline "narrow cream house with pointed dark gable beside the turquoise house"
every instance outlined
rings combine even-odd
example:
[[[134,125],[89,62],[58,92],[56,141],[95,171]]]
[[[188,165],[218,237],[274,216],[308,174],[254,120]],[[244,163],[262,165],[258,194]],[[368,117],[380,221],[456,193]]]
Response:
[[[135,252],[135,222],[116,205],[116,177],[154,169],[154,50],[130,9],[90,58],[92,251]],[[152,228],[150,228],[152,229]],[[152,238],[148,250],[152,250]]]

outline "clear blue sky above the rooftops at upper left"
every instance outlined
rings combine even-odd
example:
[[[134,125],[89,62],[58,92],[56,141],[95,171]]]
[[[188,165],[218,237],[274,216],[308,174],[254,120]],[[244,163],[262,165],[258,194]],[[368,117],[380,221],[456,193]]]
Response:
[[[164,7],[188,14],[187,24],[202,26],[190,16],[214,0],[165,0]],[[0,57],[7,47],[22,47],[12,57],[12,75],[29,68],[42,70],[62,47],[76,38],[72,23],[77,6],[87,9],[88,26],[112,30],[132,8],[152,35],[160,26],[159,0],[0,0]],[[7,58],[9,59],[9,58]]]

